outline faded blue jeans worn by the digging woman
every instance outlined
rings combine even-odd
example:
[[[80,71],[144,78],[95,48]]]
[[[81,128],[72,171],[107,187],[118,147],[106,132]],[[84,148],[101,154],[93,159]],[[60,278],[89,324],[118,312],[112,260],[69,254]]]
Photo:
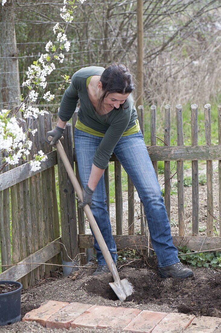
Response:
[[[102,138],[75,129],[74,143],[79,175],[83,187],[87,185],[94,153]],[[170,224],[161,195],[160,185],[149,157],[141,132],[122,137],[117,143],[114,154],[131,177],[138,195],[144,204],[148,227],[158,266],[165,267],[179,262],[178,251],[173,245]],[[116,244],[111,232],[110,218],[106,205],[104,175],[93,193],[92,213],[104,237],[114,262],[117,261]],[[93,233],[93,232],[92,232]],[[93,235],[94,236],[94,235]],[[99,265],[106,262],[94,237]]]

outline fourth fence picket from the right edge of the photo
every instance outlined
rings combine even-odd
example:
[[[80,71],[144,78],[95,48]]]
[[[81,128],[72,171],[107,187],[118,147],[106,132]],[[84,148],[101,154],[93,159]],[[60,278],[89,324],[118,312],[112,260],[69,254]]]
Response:
[[[184,146],[182,105],[176,105],[176,128],[177,128],[177,146]],[[184,189],[183,189],[183,161],[177,161],[177,195],[178,195],[178,220],[179,235],[184,236]]]

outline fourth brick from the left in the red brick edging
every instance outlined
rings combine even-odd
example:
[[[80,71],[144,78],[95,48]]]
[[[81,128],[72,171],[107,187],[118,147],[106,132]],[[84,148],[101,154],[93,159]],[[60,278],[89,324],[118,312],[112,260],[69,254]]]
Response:
[[[141,310],[132,309],[132,308],[123,308],[123,307],[114,308],[110,316],[104,318],[101,322],[99,322],[97,328],[112,327],[117,329],[123,329],[140,312]]]

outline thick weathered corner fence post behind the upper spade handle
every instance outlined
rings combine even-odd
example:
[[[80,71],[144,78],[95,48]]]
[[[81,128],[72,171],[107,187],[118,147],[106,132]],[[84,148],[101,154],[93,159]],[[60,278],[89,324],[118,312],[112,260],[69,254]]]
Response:
[[[63,134],[64,140],[61,142],[67,158],[74,166],[73,160],[73,137],[70,123],[66,124]],[[60,196],[60,219],[61,219],[61,240],[62,240],[62,258],[70,262],[76,260],[78,252],[77,238],[77,218],[75,207],[75,193],[73,185],[68,177],[67,171],[58,154],[58,181]]]

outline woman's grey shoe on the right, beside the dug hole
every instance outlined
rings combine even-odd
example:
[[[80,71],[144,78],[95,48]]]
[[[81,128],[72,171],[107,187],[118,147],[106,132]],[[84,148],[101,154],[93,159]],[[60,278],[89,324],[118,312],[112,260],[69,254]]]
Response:
[[[176,264],[166,266],[166,267],[158,267],[158,273],[161,277],[173,277],[173,278],[185,278],[193,276],[193,271],[189,268],[186,268],[181,262],[177,262]]]

